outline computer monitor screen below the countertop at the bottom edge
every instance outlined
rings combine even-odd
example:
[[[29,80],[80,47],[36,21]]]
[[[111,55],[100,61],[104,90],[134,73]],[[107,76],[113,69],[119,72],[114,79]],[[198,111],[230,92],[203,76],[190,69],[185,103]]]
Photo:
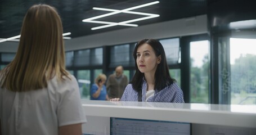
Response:
[[[190,135],[190,123],[159,120],[110,118],[110,134]]]

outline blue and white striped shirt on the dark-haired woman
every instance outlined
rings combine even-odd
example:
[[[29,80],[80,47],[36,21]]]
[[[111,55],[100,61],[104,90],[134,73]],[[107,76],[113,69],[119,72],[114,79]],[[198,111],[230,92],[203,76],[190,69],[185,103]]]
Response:
[[[146,101],[147,83],[145,79],[142,82],[142,102]],[[124,90],[121,101],[138,101],[138,92],[132,88],[132,84],[128,84]],[[161,91],[155,91],[154,96],[150,97],[147,102],[174,102],[184,103],[183,92],[177,83],[165,87]]]

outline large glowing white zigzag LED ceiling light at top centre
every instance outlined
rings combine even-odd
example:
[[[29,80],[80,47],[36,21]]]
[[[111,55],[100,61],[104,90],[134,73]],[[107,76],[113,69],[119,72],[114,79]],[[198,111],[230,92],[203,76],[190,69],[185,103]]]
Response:
[[[135,7],[130,7],[130,8],[126,8],[124,10],[113,10],[113,9],[109,9],[109,8],[99,8],[99,7],[93,7],[93,10],[102,10],[102,11],[111,11],[110,13],[106,13],[104,15],[100,15],[100,16],[95,16],[95,17],[91,17],[88,19],[84,19],[82,20],[83,22],[92,22],[92,23],[98,23],[98,24],[107,24],[107,25],[102,25],[102,26],[97,26],[94,28],[91,28],[91,30],[96,30],[96,29],[102,29],[102,28],[107,28],[110,26],[116,26],[116,25],[123,25],[123,26],[138,26],[137,24],[128,24],[129,22],[135,22],[135,21],[141,21],[141,20],[146,20],[146,19],[151,19],[154,17],[159,17],[160,15],[157,14],[153,14],[153,13],[143,13],[143,12],[134,12],[134,11],[130,11],[130,10],[134,10],[137,8],[141,8],[141,7],[146,7],[146,6],[150,6],[152,4],[157,4],[159,3],[159,1],[155,1],[155,2],[150,2],[150,3],[146,3],[146,4],[142,4],[140,6],[135,6]],[[136,15],[145,15],[147,17],[141,17],[139,19],[133,19],[133,20],[128,20],[128,21],[122,21],[122,22],[107,22],[107,21],[95,21],[95,19],[100,19],[102,17],[106,17],[106,16],[111,16],[111,15],[115,15],[117,13],[131,13],[131,14],[136,14]]]

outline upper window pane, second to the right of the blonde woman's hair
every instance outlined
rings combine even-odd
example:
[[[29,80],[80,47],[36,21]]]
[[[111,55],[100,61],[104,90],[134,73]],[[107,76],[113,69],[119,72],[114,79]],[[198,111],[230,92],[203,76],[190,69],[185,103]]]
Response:
[[[90,64],[90,50],[74,52],[74,66],[88,66]]]

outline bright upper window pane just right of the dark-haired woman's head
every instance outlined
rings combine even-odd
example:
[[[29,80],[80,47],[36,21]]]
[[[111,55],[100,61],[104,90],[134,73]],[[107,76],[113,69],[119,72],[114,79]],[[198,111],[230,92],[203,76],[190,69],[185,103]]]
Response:
[[[168,65],[180,63],[179,38],[163,39],[159,40],[159,42],[164,47]]]

